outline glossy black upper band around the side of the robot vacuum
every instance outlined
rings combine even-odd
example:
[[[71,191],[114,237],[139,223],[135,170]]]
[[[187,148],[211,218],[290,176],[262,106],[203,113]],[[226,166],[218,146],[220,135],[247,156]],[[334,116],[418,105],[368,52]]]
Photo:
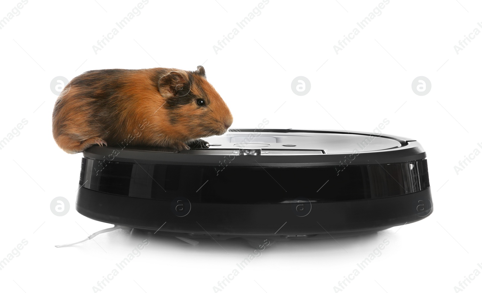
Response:
[[[281,203],[364,200],[429,186],[427,160],[332,167],[136,164],[82,158],[81,186],[137,198],[190,202]]]

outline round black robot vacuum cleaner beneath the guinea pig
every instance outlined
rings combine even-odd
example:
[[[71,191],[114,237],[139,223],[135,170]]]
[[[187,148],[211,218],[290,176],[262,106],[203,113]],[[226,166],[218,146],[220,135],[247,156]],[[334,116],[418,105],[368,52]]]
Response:
[[[179,153],[89,148],[77,211],[157,234],[219,239],[358,234],[432,212],[426,153],[415,140],[245,129],[209,142]]]

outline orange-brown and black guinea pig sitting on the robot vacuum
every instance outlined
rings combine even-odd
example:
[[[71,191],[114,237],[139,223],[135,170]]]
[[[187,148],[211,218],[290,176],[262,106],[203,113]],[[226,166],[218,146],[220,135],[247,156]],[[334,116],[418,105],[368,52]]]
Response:
[[[179,152],[201,137],[226,133],[232,122],[202,66],[104,69],[67,84],[55,102],[52,131],[67,153],[127,143]]]

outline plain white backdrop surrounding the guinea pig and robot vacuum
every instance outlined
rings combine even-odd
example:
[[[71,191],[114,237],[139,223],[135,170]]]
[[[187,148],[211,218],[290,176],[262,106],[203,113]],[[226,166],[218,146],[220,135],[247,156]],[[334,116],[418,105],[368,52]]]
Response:
[[[0,18],[18,2],[1,1]],[[0,258],[28,241],[0,271],[2,292],[93,292],[146,238],[118,230],[75,247],[54,247],[109,227],[75,211],[82,155],[64,153],[51,133],[54,77],[71,80],[103,68],[195,70],[203,64],[233,113],[232,128],[254,128],[267,118],[270,128],[372,132],[387,118],[384,133],[417,139],[427,151],[432,215],[402,228],[340,238],[339,244],[276,243],[222,292],[334,292],[384,239],[389,245],[382,255],[343,292],[454,292],[465,276],[482,272],[482,156],[458,174],[454,170],[474,149],[482,151],[482,35],[458,54],[454,49],[474,28],[482,30],[480,2],[391,0],[336,54],[333,46],[381,0],[270,0],[216,54],[217,41],[261,0],[150,0],[94,53],[97,40],[139,2],[30,0],[0,30],[0,138],[28,121],[0,150]],[[304,96],[291,90],[297,76],[311,82]],[[431,81],[427,95],[412,91],[418,76]],[[58,196],[70,202],[65,216],[50,210]],[[191,246],[150,237],[142,254],[102,292],[214,292],[253,252],[241,241],[220,244],[224,249],[209,239]],[[464,292],[481,288],[477,276]]]

